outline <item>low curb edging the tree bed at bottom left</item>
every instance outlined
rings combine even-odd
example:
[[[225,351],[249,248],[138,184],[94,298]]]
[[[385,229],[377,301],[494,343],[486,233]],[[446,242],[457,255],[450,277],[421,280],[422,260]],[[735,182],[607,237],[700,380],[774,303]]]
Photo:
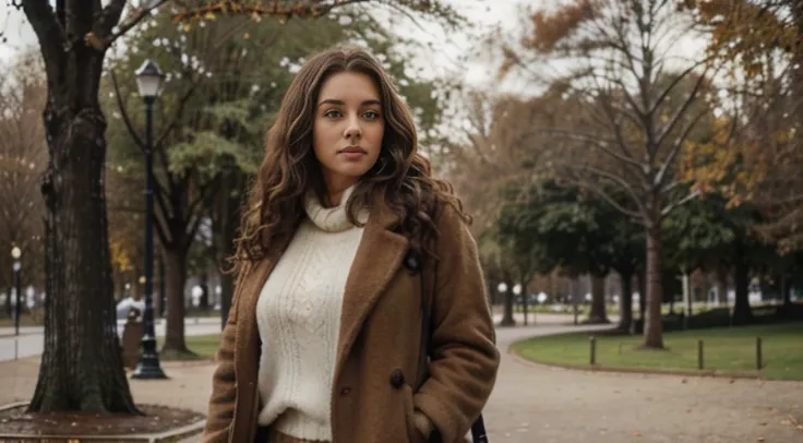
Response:
[[[0,406],[0,411],[19,408],[21,406],[27,406],[28,402],[10,403]],[[149,434],[112,434],[112,435],[71,435],[71,434],[3,434],[0,433],[0,441],[104,441],[104,442],[147,442],[147,443],[159,443],[159,442],[173,442],[181,439],[185,439],[191,435],[201,433],[206,426],[206,419],[201,419],[194,423],[190,423],[177,429],[170,429],[164,432],[149,433]]]

